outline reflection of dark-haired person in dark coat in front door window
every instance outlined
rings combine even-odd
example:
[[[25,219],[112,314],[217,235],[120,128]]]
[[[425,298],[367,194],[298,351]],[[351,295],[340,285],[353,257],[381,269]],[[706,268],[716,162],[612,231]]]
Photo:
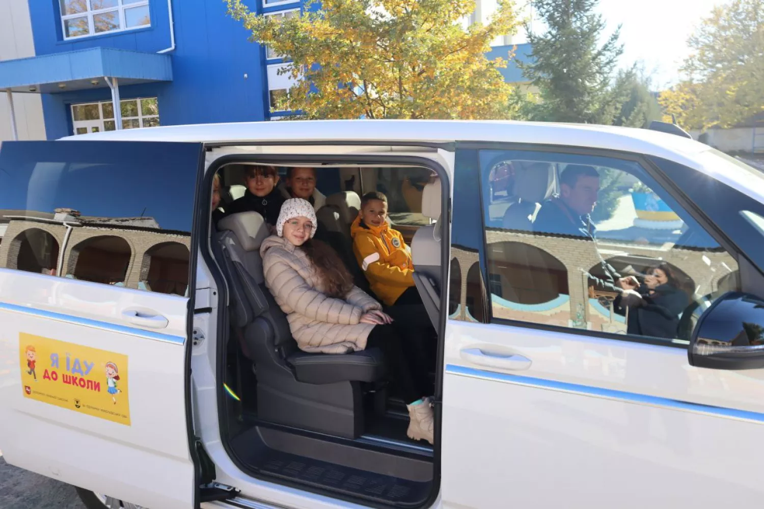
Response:
[[[645,283],[637,290],[639,298],[617,297],[613,302],[616,313],[629,319],[626,333],[637,336],[674,339],[677,335],[679,315],[688,305],[688,297],[679,289],[678,280],[667,264],[650,267]]]

